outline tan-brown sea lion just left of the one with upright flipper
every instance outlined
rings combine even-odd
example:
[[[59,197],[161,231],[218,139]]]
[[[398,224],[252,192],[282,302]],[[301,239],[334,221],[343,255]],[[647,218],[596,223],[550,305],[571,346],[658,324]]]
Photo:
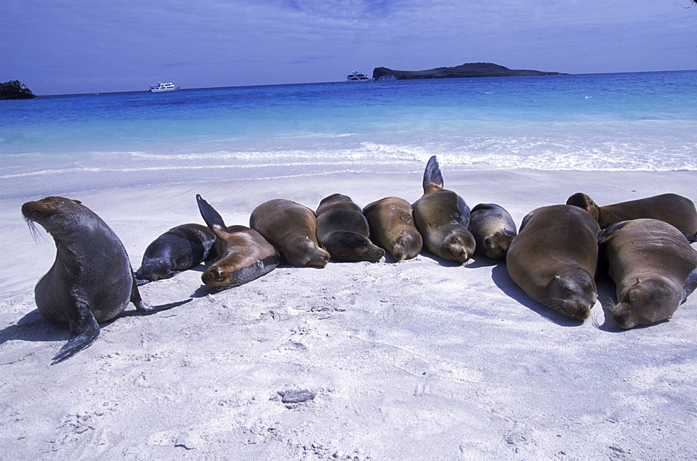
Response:
[[[424,240],[414,226],[413,210],[403,198],[386,197],[363,208],[370,238],[389,251],[396,261],[411,259],[421,253]]]

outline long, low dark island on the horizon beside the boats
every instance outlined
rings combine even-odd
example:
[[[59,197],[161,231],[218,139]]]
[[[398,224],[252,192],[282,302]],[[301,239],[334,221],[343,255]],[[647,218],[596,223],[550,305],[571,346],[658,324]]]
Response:
[[[521,75],[565,75],[563,72],[542,70],[514,70],[493,63],[465,63],[452,68],[429,70],[392,70],[374,68],[373,78],[378,79],[454,79],[462,77],[512,77]]]

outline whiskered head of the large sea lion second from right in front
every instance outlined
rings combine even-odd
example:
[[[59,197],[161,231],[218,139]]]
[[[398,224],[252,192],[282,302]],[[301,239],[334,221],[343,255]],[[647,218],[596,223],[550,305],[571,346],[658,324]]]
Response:
[[[582,268],[553,276],[545,294],[545,306],[575,320],[588,318],[598,297],[593,277]]]

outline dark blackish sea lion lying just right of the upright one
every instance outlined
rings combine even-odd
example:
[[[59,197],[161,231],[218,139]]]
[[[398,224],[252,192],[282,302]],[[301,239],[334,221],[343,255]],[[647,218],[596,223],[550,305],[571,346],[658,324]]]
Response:
[[[135,273],[138,285],[171,279],[203,263],[214,242],[215,234],[201,224],[182,224],[169,229],[145,249],[143,263]]]

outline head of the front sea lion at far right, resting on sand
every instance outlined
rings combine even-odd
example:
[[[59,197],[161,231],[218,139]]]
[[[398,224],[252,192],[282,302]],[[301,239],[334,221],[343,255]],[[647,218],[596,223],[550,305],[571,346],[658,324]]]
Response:
[[[650,325],[671,318],[681,299],[682,292],[667,279],[636,279],[613,306],[611,316],[622,329]]]

